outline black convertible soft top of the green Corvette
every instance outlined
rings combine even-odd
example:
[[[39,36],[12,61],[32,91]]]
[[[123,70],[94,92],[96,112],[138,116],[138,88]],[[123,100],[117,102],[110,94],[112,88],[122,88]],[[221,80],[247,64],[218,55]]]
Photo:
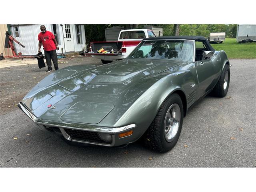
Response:
[[[195,40],[195,41],[204,41],[206,46],[208,46],[209,50],[215,51],[215,49],[211,46],[208,39],[204,38],[203,36],[161,36],[161,37],[150,37],[143,40],[160,40],[160,39],[188,39],[188,40]]]

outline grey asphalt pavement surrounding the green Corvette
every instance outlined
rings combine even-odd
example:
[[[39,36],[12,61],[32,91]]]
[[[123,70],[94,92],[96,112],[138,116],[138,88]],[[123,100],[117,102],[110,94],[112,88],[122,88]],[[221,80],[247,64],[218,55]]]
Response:
[[[60,68],[91,63],[101,64],[86,57],[59,60]],[[164,154],[140,142],[125,148],[70,146],[39,130],[16,104],[48,75],[46,69],[1,68],[0,167],[256,167],[256,60],[230,64],[227,96],[206,96],[189,109],[178,143]]]

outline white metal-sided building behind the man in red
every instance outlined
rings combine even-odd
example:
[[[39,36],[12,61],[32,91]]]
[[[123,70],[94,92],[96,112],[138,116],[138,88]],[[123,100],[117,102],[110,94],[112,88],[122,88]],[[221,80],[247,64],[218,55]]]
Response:
[[[57,54],[62,53],[62,48],[66,53],[79,52],[86,47],[82,24],[10,24],[12,36],[25,46],[23,48],[14,42],[16,54],[21,52],[22,55],[36,55],[38,53],[38,34],[41,32],[41,25],[54,34],[59,46]],[[41,51],[44,54],[42,48]]]

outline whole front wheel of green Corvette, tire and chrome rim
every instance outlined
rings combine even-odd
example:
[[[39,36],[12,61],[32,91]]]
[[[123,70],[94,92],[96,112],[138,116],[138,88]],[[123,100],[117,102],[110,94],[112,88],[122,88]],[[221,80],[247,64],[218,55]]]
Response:
[[[144,145],[159,151],[171,150],[180,137],[183,122],[183,105],[176,93],[168,97],[143,135]]]

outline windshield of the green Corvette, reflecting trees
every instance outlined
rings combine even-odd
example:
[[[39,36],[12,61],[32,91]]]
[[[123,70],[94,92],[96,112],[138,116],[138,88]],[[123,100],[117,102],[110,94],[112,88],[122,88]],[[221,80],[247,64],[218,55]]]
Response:
[[[127,58],[193,61],[193,51],[193,41],[146,40],[141,42]]]

